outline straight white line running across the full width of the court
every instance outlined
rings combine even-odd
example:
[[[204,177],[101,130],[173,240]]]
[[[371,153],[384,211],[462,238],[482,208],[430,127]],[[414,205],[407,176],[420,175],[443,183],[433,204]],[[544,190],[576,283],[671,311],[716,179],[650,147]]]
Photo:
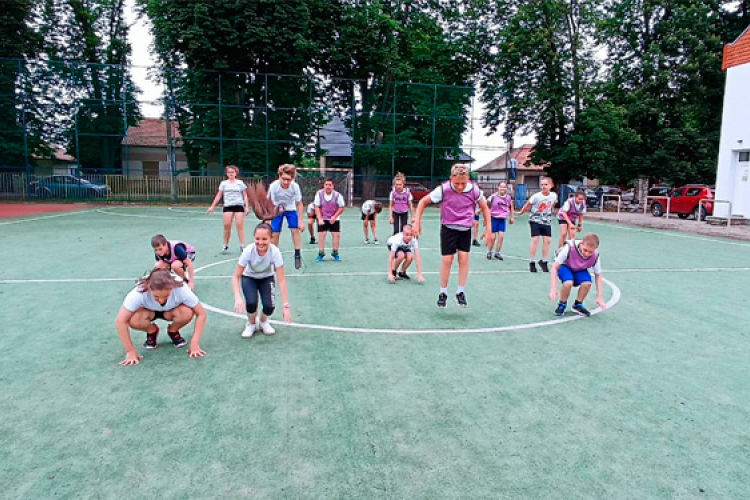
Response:
[[[208,269],[219,265],[224,262],[234,261],[235,259],[223,260],[221,262],[214,262],[198,269]],[[620,269],[607,269],[605,274],[625,274],[625,273],[715,273],[715,272],[735,272],[735,271],[750,271],[750,267],[684,267],[684,268],[658,268],[658,267],[631,267],[631,268],[620,268]],[[335,278],[345,276],[383,276],[385,272],[382,271],[359,271],[359,272],[341,272],[341,273],[289,273],[287,278]],[[422,274],[426,275],[439,275],[440,271],[423,271]],[[452,271],[451,275],[458,274],[457,271]],[[530,274],[526,269],[498,269],[495,271],[471,271],[470,274]],[[543,273],[538,273],[543,274]],[[226,280],[232,277],[231,274],[220,274],[220,275],[208,275],[201,276],[198,281],[204,280]],[[107,282],[118,282],[118,281],[130,281],[135,283],[136,278],[60,278],[60,279],[0,279],[0,285],[22,285],[26,283],[107,283]]]

